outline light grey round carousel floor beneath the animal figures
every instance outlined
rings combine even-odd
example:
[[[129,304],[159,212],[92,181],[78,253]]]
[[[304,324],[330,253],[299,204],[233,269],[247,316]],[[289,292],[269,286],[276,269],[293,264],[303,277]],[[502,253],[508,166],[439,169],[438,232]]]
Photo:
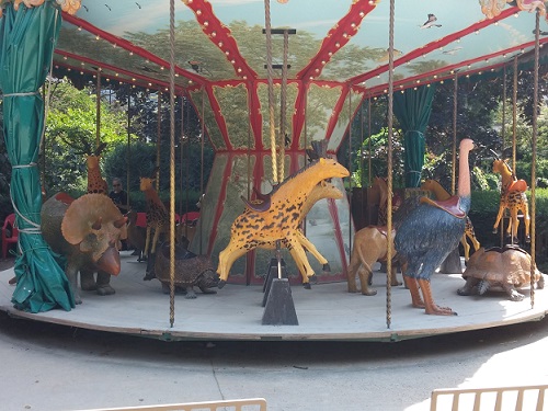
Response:
[[[375,273],[378,294],[366,297],[349,294],[346,283],[318,284],[312,289],[292,286],[298,326],[263,326],[261,286],[226,285],[216,295],[197,290],[196,299],[175,296],[174,324],[170,327],[169,295],[157,279],[142,281],[146,263],[130,252],[122,252],[122,272],[111,284],[116,294],[102,297],[82,293],[83,304],[71,311],[60,309],[27,313],[13,308],[13,286],[8,281],[13,269],[0,272],[0,309],[12,316],[83,329],[127,333],[167,341],[179,340],[331,340],[399,341],[434,334],[509,326],[540,320],[548,312],[546,289],[535,290],[530,307],[528,289],[523,301],[510,301],[504,293],[463,297],[459,274],[435,274],[433,295],[441,306],[452,307],[458,316],[426,316],[410,305],[409,290],[391,288],[391,320],[387,328],[386,278]],[[401,275],[398,274],[399,279]]]

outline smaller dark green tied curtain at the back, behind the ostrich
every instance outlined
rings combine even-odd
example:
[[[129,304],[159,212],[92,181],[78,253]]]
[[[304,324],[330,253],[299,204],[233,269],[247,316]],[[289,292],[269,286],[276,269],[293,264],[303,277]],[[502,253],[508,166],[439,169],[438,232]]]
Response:
[[[393,94],[393,114],[403,130],[406,187],[421,185],[424,165],[424,132],[429,125],[435,85],[408,89]]]

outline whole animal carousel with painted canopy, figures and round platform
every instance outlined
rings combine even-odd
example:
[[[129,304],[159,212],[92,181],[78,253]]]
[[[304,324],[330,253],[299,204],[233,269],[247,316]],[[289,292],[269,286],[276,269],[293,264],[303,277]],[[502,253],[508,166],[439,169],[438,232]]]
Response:
[[[493,222],[507,221],[499,229],[507,228],[510,244],[480,249],[467,216],[468,155],[478,147],[457,136],[456,91],[459,80],[516,78],[533,66],[538,105],[544,1],[0,0],[0,8],[19,229],[14,267],[0,272],[0,309],[11,316],[167,341],[399,341],[535,321],[548,311],[535,264],[537,113],[528,185],[512,172],[515,136],[507,139],[513,159],[495,160],[502,185]],[[140,179],[147,263],[119,250],[132,221],[105,196],[99,121],[88,194],[43,195],[44,90],[67,71],[94,79],[98,100],[105,80],[169,95],[169,206],[156,192],[159,174]],[[439,82],[455,84],[450,193],[423,175]],[[193,105],[215,152],[184,247],[169,229],[181,222],[178,99]],[[386,179],[366,179],[378,216],[364,227],[367,205],[356,213],[354,170],[338,155],[367,137],[365,118],[359,135],[352,124],[377,99],[388,106],[387,170]],[[396,118],[402,217],[392,216]],[[515,244],[520,222],[530,253]]]

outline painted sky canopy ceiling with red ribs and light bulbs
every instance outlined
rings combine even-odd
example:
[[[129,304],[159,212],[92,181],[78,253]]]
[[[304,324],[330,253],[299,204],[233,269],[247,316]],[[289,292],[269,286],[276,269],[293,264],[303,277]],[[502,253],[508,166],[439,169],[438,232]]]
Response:
[[[494,3],[495,5],[491,5]],[[496,4],[502,3],[498,10]],[[395,89],[500,70],[548,41],[544,2],[408,0],[396,2]],[[514,4],[514,5],[513,5]],[[388,0],[270,1],[274,76],[287,53],[289,82],[346,84],[364,95],[387,90]],[[529,10],[530,11],[530,10]],[[203,84],[264,81],[264,0],[176,0],[174,62],[178,92]],[[287,30],[285,36],[284,30]],[[545,32],[546,31],[546,32]],[[279,33],[279,34],[277,34]],[[286,43],[285,43],[286,38]],[[285,46],[284,46],[285,44]],[[150,0],[83,0],[64,13],[55,66],[163,90],[170,77],[170,4]]]

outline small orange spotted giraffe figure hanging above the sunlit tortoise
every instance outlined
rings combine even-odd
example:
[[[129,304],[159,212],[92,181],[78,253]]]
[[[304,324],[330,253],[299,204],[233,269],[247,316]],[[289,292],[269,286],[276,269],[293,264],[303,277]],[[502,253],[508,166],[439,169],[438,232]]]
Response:
[[[493,233],[498,232],[502,214],[504,209],[507,208],[510,210],[511,224],[509,224],[506,229],[506,236],[512,236],[512,241],[517,242],[517,227],[520,226],[517,213],[522,212],[525,224],[525,241],[530,242],[529,205],[527,195],[525,194],[527,183],[524,180],[517,180],[510,165],[501,159],[495,159],[493,161],[493,172],[502,175],[501,201],[499,214],[496,215],[496,220],[493,226]]]

